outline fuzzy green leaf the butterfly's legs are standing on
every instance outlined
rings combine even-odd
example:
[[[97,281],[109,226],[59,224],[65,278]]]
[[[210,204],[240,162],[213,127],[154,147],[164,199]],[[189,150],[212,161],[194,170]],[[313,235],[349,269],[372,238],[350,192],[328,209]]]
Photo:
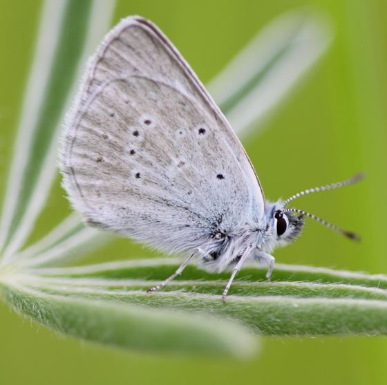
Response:
[[[50,295],[226,317],[241,321],[263,335],[387,332],[387,276],[384,275],[278,265],[273,281],[267,282],[265,269],[247,266],[238,274],[223,303],[220,295],[229,273],[209,274],[190,265],[162,291],[146,292],[177,267],[176,260],[126,261],[26,270],[19,281]]]

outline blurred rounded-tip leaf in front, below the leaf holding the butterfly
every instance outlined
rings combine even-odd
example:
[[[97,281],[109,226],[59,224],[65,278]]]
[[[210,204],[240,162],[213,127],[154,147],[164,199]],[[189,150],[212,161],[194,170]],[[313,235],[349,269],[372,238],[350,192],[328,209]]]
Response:
[[[2,292],[17,311],[47,328],[99,344],[231,357],[246,357],[256,348],[245,328],[217,318],[46,294],[14,281]]]

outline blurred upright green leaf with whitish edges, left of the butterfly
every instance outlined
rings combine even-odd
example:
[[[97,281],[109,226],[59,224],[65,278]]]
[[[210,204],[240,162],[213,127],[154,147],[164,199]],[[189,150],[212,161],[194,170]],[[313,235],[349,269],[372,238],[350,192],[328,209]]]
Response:
[[[15,144],[0,223],[4,261],[20,249],[57,173],[57,133],[91,49],[106,31],[114,2],[44,4],[35,59]]]

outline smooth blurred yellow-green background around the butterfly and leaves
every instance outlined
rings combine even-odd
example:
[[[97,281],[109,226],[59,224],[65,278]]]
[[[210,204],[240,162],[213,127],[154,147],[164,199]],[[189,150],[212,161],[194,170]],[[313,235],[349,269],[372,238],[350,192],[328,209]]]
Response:
[[[79,0],[82,1],[82,0]],[[1,0],[0,198],[39,22],[40,1]],[[114,23],[142,15],[158,24],[208,82],[265,24],[286,10],[316,5],[332,21],[323,59],[244,144],[268,198],[365,170],[360,185],[308,196],[297,207],[359,232],[351,243],[317,223],[278,250],[282,263],[387,272],[387,25],[385,1],[118,1]],[[70,212],[59,178],[30,241]],[[152,256],[117,240],[97,260]],[[2,384],[386,384],[384,337],[264,338],[249,362],[216,357],[122,353],[57,337],[0,305]]]

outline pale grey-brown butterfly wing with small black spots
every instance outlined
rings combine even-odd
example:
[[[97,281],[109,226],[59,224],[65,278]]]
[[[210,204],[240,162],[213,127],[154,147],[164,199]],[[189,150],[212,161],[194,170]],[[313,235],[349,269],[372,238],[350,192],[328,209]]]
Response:
[[[140,17],[122,20],[88,63],[60,167],[88,223],[166,250],[263,218],[258,178],[223,113]]]

